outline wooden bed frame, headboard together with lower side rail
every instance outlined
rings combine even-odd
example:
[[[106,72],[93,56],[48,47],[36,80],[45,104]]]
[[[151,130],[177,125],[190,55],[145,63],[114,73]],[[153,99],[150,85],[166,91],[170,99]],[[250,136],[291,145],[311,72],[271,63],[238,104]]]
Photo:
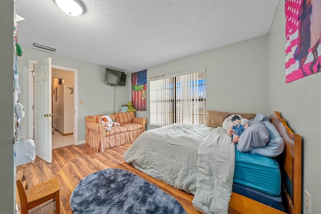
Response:
[[[232,192],[229,213],[301,213],[301,136],[292,132],[278,112],[270,116],[270,122],[277,128],[285,143],[278,161],[281,169],[282,201],[286,212]],[[286,187],[288,180],[290,187]]]

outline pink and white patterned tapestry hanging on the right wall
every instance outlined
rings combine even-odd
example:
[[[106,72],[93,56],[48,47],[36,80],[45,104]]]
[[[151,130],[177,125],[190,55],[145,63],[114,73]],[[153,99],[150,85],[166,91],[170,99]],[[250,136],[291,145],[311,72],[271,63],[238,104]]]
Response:
[[[285,1],[285,82],[320,71],[321,1]]]

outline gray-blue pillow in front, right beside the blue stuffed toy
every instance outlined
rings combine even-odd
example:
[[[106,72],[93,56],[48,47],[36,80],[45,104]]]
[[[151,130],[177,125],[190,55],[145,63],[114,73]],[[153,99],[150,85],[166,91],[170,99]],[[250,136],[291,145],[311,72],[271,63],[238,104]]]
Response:
[[[248,152],[256,147],[263,147],[269,141],[270,134],[261,121],[252,121],[244,130],[237,144],[237,150]]]

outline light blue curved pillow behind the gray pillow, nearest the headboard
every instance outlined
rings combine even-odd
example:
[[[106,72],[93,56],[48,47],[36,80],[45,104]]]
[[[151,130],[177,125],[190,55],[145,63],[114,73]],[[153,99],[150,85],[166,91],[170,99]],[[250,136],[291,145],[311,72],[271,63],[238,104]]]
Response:
[[[253,148],[250,153],[266,157],[276,157],[283,152],[284,141],[273,124],[267,121],[263,122],[263,124],[270,134],[270,139],[265,146]]]

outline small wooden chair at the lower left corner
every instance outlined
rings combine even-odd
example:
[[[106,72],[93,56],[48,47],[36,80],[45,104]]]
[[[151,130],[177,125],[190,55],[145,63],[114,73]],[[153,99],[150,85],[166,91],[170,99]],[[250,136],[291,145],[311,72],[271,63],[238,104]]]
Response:
[[[60,186],[57,178],[52,178],[32,187],[28,187],[25,173],[22,169],[17,172],[16,180],[20,203],[21,213],[28,213],[32,209],[50,199],[56,200],[56,213],[60,213]]]

